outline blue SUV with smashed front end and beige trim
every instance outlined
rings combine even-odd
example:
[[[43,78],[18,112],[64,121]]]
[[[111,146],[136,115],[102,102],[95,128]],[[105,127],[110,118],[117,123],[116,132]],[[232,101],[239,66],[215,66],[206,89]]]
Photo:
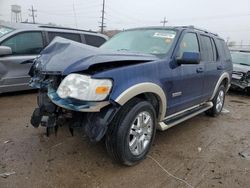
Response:
[[[193,26],[130,29],[99,48],[56,38],[30,70],[30,85],[39,88],[31,123],[47,135],[59,125],[72,134],[81,128],[132,166],[145,158],[156,129],[220,114],[231,74],[224,40]]]

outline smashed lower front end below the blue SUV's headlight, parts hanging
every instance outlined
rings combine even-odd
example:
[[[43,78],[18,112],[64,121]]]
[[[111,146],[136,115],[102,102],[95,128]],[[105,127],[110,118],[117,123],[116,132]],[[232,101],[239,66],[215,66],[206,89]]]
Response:
[[[60,126],[67,125],[73,135],[74,128],[81,128],[91,141],[97,142],[106,133],[107,126],[119,109],[115,103],[107,101],[91,102],[73,98],[61,98],[58,87],[60,75],[35,74],[30,85],[38,88],[38,107],[31,117],[34,127],[46,128],[46,134],[57,133]]]

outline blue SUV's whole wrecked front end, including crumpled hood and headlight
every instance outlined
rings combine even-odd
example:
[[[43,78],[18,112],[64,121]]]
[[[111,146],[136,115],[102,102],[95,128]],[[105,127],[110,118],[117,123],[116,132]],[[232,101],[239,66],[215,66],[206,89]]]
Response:
[[[120,106],[110,99],[112,78],[94,75],[155,59],[153,55],[110,52],[56,37],[29,73],[30,86],[39,89],[31,124],[46,127],[47,135],[68,124],[72,134],[80,127],[92,141],[101,140]]]

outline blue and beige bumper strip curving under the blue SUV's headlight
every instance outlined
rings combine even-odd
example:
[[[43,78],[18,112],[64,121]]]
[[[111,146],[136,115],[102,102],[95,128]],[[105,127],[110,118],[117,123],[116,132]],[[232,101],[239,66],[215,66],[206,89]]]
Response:
[[[87,102],[74,99],[62,99],[57,95],[56,91],[52,89],[49,89],[48,97],[55,105],[77,112],[100,112],[103,107],[110,104],[108,101]]]

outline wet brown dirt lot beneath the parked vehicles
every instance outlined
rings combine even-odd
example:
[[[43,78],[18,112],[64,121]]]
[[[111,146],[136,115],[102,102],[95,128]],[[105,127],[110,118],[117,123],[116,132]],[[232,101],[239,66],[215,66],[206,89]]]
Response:
[[[103,143],[61,128],[47,138],[30,123],[35,93],[0,96],[0,187],[188,187],[151,158],[135,167],[114,163]],[[250,97],[231,93],[218,118],[204,114],[157,132],[150,156],[193,187],[250,187]]]

